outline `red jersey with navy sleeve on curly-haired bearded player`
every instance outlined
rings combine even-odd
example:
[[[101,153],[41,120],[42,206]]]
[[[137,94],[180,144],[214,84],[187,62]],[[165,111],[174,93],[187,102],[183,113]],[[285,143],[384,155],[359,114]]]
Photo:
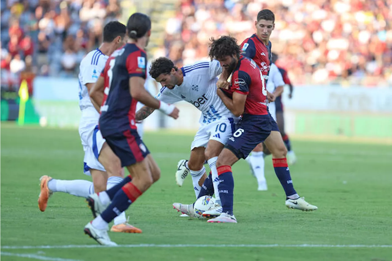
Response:
[[[268,114],[265,80],[254,60],[241,55],[231,77],[231,90],[247,95],[244,114]]]

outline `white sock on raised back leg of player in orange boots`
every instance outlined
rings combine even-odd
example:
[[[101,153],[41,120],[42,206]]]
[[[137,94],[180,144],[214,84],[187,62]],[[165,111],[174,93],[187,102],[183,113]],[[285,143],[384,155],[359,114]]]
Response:
[[[90,194],[94,194],[93,182],[84,179],[51,179],[48,182],[48,187],[53,192],[64,192],[83,198],[87,198]]]

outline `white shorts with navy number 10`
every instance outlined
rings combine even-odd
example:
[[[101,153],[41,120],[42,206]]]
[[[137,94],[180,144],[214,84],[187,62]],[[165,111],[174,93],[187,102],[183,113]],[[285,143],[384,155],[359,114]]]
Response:
[[[201,126],[192,141],[191,150],[197,147],[207,147],[209,140],[216,140],[226,145],[227,140],[236,130],[237,122],[236,118],[224,118]]]

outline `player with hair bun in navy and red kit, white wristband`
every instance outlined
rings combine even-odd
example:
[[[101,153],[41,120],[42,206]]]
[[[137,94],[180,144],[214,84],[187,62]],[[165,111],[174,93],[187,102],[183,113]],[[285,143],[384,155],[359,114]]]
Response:
[[[99,125],[102,136],[118,156],[113,172],[122,173],[122,168],[127,167],[130,175],[111,189],[87,198],[93,216],[100,215],[87,223],[84,232],[102,245],[116,245],[107,234],[108,224],[160,178],[160,169],[136,130],[136,103],[140,101],[175,119],[179,112],[174,105],[156,100],[144,88],[144,49],[151,35],[150,18],[142,13],[132,14],[127,33],[127,44],[116,50],[109,61],[109,93],[102,105]]]

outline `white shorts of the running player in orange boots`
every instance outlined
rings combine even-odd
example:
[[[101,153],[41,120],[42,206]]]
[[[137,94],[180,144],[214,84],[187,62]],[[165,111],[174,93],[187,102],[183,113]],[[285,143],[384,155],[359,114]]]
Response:
[[[84,121],[81,119],[79,135],[80,140],[82,140],[84,150],[84,174],[90,176],[90,169],[106,171],[103,165],[98,161],[98,156],[101,152],[103,143],[105,143],[105,139],[102,137],[101,131],[98,129],[98,123],[96,121]]]

